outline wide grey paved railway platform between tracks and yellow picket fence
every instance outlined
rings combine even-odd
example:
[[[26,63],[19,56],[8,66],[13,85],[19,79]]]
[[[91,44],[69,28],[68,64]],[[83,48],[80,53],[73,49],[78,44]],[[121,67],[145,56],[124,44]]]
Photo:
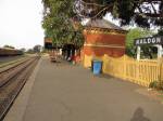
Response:
[[[4,121],[162,121],[147,89],[43,56]]]

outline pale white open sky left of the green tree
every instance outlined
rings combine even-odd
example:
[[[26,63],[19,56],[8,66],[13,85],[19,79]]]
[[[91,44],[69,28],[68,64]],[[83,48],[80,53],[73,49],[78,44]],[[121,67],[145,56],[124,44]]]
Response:
[[[0,48],[43,45],[41,0],[0,0]]]

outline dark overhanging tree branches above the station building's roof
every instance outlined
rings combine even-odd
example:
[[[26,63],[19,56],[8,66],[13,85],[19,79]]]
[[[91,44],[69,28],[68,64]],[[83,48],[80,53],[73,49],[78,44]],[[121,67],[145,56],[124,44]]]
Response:
[[[122,25],[163,26],[163,0],[75,0],[79,17],[98,18],[111,13]]]

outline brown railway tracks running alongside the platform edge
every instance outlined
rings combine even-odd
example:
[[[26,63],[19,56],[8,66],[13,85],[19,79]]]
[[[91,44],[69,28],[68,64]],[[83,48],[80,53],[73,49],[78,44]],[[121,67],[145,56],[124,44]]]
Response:
[[[30,57],[0,71],[0,121],[3,120],[39,58]]]

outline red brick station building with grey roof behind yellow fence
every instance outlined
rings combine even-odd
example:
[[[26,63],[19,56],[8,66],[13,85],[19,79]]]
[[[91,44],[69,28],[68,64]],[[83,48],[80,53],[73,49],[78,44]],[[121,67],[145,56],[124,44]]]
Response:
[[[90,67],[92,59],[101,59],[105,54],[111,57],[123,56],[126,33],[126,30],[109,21],[89,21],[84,30],[85,44],[82,50],[84,66]]]

